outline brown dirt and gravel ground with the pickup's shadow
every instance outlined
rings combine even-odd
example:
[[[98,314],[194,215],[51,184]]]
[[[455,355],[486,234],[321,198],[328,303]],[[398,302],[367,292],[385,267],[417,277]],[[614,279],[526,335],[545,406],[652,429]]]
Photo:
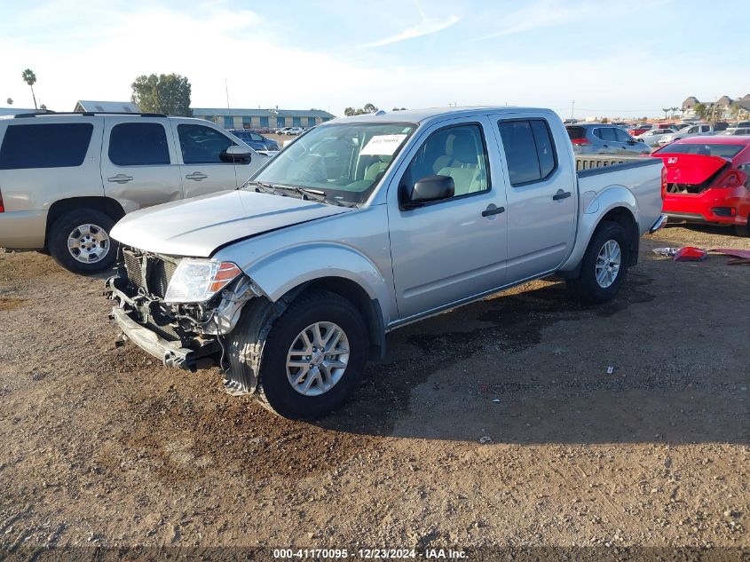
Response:
[[[115,346],[101,278],[0,254],[0,549],[750,548],[750,267],[651,252],[685,244],[750,247],[669,227],[609,305],[535,281],[397,330],[317,423]]]

